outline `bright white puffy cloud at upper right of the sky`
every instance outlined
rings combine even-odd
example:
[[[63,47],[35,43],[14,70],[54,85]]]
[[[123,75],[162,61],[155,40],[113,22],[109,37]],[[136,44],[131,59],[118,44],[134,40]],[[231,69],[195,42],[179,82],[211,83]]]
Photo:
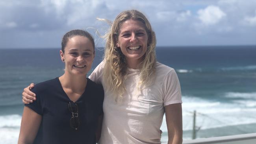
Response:
[[[226,13],[217,6],[208,6],[205,9],[199,9],[197,14],[198,18],[205,25],[217,24],[226,16]]]

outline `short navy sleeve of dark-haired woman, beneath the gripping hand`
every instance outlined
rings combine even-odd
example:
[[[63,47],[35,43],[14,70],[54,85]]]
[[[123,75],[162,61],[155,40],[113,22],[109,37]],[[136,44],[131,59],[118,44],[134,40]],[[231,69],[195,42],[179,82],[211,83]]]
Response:
[[[29,107],[30,109],[32,109],[36,113],[38,113],[40,115],[43,115],[40,92],[38,92],[37,86],[35,85],[35,87],[33,89],[31,89],[31,91],[34,92],[37,95],[36,96],[37,99],[33,103],[25,104],[25,106]]]

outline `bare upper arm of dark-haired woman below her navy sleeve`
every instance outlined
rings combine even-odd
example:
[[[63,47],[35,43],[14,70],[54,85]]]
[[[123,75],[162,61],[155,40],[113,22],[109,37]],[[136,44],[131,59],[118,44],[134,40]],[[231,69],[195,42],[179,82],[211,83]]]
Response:
[[[24,107],[18,144],[32,144],[41,124],[42,116]]]

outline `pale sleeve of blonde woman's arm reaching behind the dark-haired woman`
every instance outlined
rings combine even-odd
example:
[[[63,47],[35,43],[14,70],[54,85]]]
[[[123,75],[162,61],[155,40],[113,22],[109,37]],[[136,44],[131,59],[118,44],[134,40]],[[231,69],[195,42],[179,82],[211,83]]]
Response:
[[[103,74],[104,62],[102,61],[91,73],[89,79],[97,84],[102,84],[102,74]]]

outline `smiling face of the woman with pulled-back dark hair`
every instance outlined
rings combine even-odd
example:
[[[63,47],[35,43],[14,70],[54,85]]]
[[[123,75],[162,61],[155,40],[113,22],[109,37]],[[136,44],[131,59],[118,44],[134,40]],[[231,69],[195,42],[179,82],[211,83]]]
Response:
[[[65,73],[86,76],[91,70],[95,52],[91,41],[78,35],[68,40],[65,53],[60,51],[60,54],[61,59],[65,59]]]

